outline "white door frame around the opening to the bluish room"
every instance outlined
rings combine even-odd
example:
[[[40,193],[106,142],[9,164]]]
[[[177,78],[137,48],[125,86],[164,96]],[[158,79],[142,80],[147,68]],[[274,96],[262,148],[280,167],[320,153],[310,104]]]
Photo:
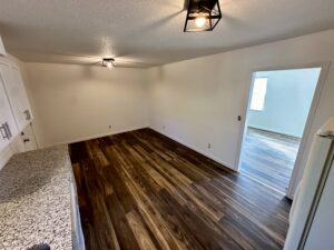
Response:
[[[288,188],[287,188],[286,193],[285,193],[285,196],[287,198],[293,199],[293,194],[294,194],[294,191],[295,191],[296,186],[297,186],[296,182],[298,181],[297,177],[299,176],[299,171],[303,170],[301,164],[302,164],[302,160],[304,158],[304,151],[305,151],[305,148],[306,148],[306,143],[307,143],[308,139],[313,136],[313,134],[310,134],[310,131],[311,131],[313,120],[314,120],[314,117],[315,117],[315,113],[316,113],[316,110],[317,110],[317,107],[318,107],[318,103],[320,103],[320,99],[321,99],[323,87],[324,87],[324,83],[325,83],[325,80],[326,80],[326,77],[327,77],[330,64],[331,64],[331,62],[326,61],[326,62],[318,62],[318,63],[315,62],[315,63],[297,64],[297,66],[294,64],[294,66],[289,66],[289,67],[286,67],[286,66],[282,67],[281,66],[281,67],[253,69],[249,72],[248,79],[250,78],[250,82],[248,82],[248,84],[247,84],[247,92],[246,92],[247,93],[247,96],[246,96],[247,101],[245,102],[244,110],[243,110],[244,119],[243,119],[243,122],[242,122],[242,128],[240,128],[242,133],[240,133],[239,142],[238,142],[238,158],[237,158],[237,162],[236,162],[237,171],[239,171],[240,163],[242,163],[242,150],[243,150],[244,140],[246,138],[245,133],[246,133],[246,130],[247,130],[246,123],[247,123],[247,116],[248,116],[248,107],[249,107],[249,102],[250,102],[250,98],[252,98],[250,90],[253,88],[255,73],[258,72],[258,71],[278,71],[278,70],[321,68],[320,78],[318,78],[318,81],[317,81],[317,84],[316,84],[316,88],[315,88],[315,91],[314,91],[312,104],[311,104],[311,108],[310,108],[310,111],[308,111],[307,120],[306,120],[306,123],[305,123],[303,137],[302,137],[301,144],[299,144],[299,149],[298,149],[297,157],[296,157],[296,160],[295,160],[295,164],[294,164],[294,168],[293,168],[293,172],[292,172],[292,176],[291,176],[291,179],[289,179],[289,184],[288,184]]]

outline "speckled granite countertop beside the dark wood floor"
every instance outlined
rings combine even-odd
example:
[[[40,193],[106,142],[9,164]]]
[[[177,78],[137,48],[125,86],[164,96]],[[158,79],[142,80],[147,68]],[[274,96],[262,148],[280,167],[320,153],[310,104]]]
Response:
[[[16,154],[0,171],[0,249],[72,249],[67,146]]]

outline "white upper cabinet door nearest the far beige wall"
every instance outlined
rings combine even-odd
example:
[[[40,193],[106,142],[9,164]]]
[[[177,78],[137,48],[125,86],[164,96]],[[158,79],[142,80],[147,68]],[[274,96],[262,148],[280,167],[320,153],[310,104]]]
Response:
[[[9,64],[9,79],[4,81],[6,92],[19,131],[22,131],[32,120],[26,88],[18,67]]]

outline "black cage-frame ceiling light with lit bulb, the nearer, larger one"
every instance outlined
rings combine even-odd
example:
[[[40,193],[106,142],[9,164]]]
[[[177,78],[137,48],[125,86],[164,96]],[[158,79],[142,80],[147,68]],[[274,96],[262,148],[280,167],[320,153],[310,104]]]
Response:
[[[219,0],[186,0],[184,32],[212,31],[222,19]]]

